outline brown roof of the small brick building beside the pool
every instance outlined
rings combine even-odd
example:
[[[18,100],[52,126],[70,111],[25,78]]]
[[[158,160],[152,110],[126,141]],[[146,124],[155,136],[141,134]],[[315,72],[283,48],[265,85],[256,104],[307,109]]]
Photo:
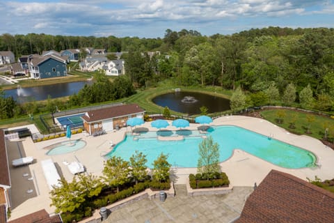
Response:
[[[93,121],[101,121],[104,119],[128,116],[131,114],[138,114],[138,113],[143,113],[143,112],[145,112],[145,110],[141,109],[136,104],[118,105],[114,107],[107,107],[104,109],[98,109],[95,111],[86,112],[86,114],[82,116],[81,118],[83,118],[84,121],[90,123]]]

